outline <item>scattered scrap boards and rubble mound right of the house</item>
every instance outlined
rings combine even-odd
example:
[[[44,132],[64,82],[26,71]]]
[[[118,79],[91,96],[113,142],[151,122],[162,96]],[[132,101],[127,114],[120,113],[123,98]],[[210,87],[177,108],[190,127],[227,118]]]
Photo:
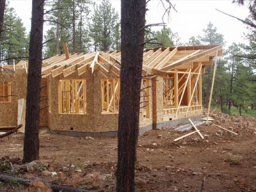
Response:
[[[211,114],[208,119],[207,116],[202,116],[201,122],[193,122],[191,119],[189,119],[189,122],[189,124],[175,128],[175,131],[184,132],[189,131],[190,129],[194,130],[188,134],[180,136],[179,138],[175,138],[173,141],[182,140],[183,138],[196,133],[200,136],[200,138],[202,138],[202,140],[204,140],[205,137],[208,137],[209,135],[204,135],[202,132],[208,132],[209,129],[216,129],[216,136],[223,136],[223,132],[228,132],[230,136],[238,136],[242,129],[245,131],[249,131],[249,129],[252,131],[251,129],[253,129],[252,122],[246,120],[244,117],[232,116],[217,112]],[[254,134],[256,134],[256,130]]]

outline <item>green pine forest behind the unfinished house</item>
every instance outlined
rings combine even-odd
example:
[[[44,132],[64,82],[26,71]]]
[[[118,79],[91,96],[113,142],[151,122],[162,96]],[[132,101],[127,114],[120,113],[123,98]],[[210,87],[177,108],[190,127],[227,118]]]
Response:
[[[44,35],[44,58],[63,53],[63,42],[70,52],[109,51],[120,49],[120,17],[111,4],[103,0],[99,4],[89,0],[46,1],[45,22],[48,28]],[[230,1],[230,4],[232,1]],[[246,4],[250,15],[246,21],[255,24],[255,3]],[[239,15],[237,15],[239,16]],[[225,17],[223,15],[223,17]],[[226,16],[227,17],[227,16]],[[145,39],[150,42],[145,48],[173,47],[180,45],[221,44],[225,47],[223,57],[218,59],[216,84],[212,105],[223,113],[256,116],[256,29],[247,27],[244,44],[225,46],[225,38],[216,26],[209,22],[202,35],[191,36],[182,43],[179,34],[161,26],[147,31]],[[0,44],[0,60],[12,64],[28,58],[29,34],[19,15],[7,3],[4,14],[3,33]],[[203,102],[209,102],[212,67],[206,68],[203,76]]]

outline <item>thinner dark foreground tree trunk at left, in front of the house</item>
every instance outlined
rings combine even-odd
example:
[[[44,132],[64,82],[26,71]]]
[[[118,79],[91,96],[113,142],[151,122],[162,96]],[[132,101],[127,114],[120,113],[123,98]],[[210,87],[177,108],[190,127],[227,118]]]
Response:
[[[24,163],[39,159],[38,127],[40,119],[43,26],[44,0],[33,0],[29,41],[26,127],[23,150]]]

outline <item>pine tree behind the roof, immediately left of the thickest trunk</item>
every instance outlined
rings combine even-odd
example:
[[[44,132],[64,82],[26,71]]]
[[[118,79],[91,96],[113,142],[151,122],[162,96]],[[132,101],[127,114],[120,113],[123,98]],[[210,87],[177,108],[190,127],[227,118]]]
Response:
[[[118,13],[112,7],[109,0],[103,0],[93,9],[92,22],[90,23],[90,37],[92,39],[94,51],[109,51],[113,45],[116,45],[115,37],[118,37],[119,30]],[[114,30],[113,30],[114,28]]]

